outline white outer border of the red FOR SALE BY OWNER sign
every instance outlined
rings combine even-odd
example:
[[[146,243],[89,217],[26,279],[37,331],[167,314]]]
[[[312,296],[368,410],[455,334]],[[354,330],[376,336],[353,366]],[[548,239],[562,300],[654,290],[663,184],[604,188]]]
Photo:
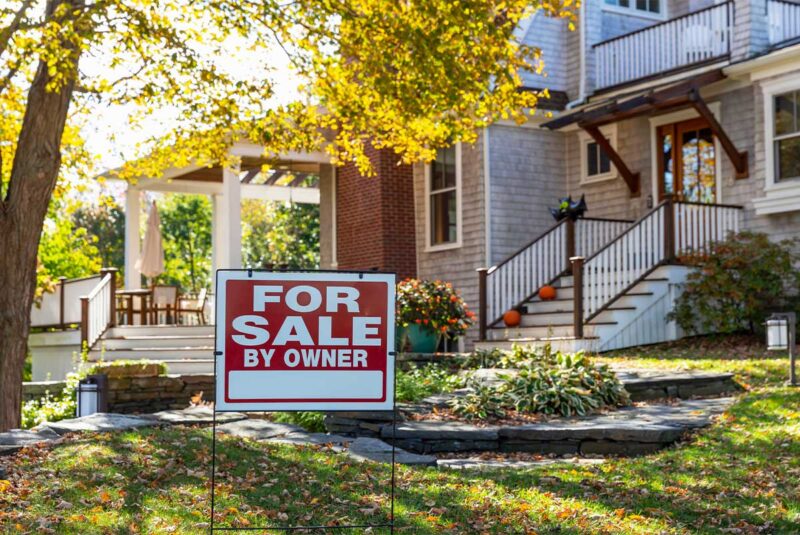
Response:
[[[386,355],[386,399],[379,402],[247,402],[229,403],[225,401],[225,302],[226,287],[230,280],[259,281],[309,281],[309,282],[383,282],[388,287],[387,302],[387,355]],[[214,294],[214,388],[216,412],[241,411],[392,411],[395,397],[395,284],[393,273],[357,273],[342,271],[258,271],[248,269],[217,270]]]

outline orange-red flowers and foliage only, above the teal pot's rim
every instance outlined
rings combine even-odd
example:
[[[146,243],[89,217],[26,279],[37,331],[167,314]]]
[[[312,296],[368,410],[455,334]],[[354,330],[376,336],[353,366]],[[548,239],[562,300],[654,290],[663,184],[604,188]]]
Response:
[[[449,282],[405,279],[397,284],[397,324],[421,328],[451,338],[462,336],[475,313]]]

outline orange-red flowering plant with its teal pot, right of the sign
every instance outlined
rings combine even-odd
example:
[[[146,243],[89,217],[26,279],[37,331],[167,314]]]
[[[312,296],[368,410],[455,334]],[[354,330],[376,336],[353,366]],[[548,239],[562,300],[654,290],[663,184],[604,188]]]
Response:
[[[405,279],[397,285],[398,347],[406,340],[415,353],[433,353],[443,336],[462,336],[475,319],[453,285]]]

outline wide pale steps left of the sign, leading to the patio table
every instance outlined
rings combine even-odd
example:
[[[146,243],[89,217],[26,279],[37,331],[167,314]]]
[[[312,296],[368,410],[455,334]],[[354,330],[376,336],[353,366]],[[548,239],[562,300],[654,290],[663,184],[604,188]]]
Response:
[[[213,325],[111,327],[89,352],[89,361],[158,360],[170,374],[214,373]]]

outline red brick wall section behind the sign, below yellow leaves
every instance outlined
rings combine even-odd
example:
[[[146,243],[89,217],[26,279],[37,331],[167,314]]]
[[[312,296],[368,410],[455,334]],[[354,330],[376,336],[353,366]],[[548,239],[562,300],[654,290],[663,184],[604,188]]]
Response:
[[[336,257],[339,269],[417,273],[414,184],[410,165],[389,150],[368,149],[377,172],[364,177],[352,164],[336,174]]]

